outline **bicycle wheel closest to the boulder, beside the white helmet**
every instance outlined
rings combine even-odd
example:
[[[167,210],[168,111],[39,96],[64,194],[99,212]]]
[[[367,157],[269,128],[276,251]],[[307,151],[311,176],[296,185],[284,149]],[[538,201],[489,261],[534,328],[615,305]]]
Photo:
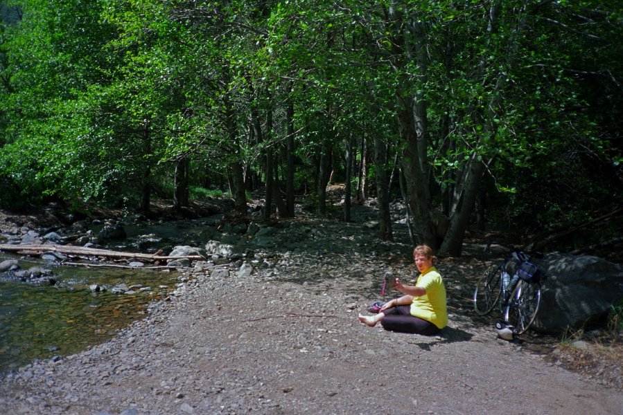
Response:
[[[522,281],[517,284],[505,313],[507,321],[515,326],[516,334],[524,333],[534,322],[538,304],[541,304],[540,283],[529,284]]]

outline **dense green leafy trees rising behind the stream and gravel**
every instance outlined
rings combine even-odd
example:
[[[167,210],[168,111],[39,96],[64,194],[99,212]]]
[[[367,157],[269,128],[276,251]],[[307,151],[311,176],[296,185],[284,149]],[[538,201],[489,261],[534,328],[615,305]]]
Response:
[[[295,214],[403,197],[414,239],[540,232],[623,200],[617,0],[0,0],[0,208]],[[620,236],[620,235],[618,235]]]

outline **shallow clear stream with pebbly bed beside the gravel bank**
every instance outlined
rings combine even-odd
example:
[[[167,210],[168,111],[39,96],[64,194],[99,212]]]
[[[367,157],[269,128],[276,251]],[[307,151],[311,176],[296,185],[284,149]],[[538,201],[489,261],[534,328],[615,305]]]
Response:
[[[105,245],[111,250],[155,252],[164,245],[192,241],[203,226],[124,226],[128,239]],[[141,245],[137,243],[139,241]],[[117,331],[147,315],[149,302],[168,295],[179,273],[168,269],[59,266],[38,258],[0,252],[0,262],[17,259],[21,269],[53,270],[56,284],[37,286],[0,274],[0,373],[15,371],[33,359],[68,356],[105,342]],[[89,285],[106,291],[97,293]],[[110,288],[136,286],[136,294],[113,294]]]

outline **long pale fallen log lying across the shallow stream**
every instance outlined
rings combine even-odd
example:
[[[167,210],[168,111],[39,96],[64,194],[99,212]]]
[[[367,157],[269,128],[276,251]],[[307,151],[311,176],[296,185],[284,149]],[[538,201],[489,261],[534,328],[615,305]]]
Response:
[[[141,254],[138,252],[117,252],[100,248],[84,248],[82,246],[68,245],[7,245],[0,243],[0,250],[16,252],[22,255],[44,255],[48,252],[59,252],[64,255],[107,257],[123,259],[143,259],[147,261],[166,261],[167,259],[204,259],[200,255],[186,255],[182,257],[163,257],[155,254]]]

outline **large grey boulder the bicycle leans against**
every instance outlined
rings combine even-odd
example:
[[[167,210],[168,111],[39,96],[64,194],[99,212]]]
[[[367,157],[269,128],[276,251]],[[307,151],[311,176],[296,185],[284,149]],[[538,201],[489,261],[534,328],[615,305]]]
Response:
[[[542,283],[541,306],[532,326],[536,331],[578,329],[623,299],[623,266],[588,255],[554,253],[532,262],[549,275]]]

